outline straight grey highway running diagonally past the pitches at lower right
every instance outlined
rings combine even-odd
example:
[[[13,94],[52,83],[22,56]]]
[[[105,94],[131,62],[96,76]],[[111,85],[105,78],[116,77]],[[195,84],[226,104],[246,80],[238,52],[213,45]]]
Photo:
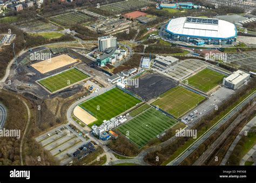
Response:
[[[186,159],[194,150],[196,150],[200,144],[202,144],[207,138],[209,138],[215,131],[217,131],[220,126],[225,124],[228,119],[230,119],[234,114],[236,114],[238,111],[240,111],[248,102],[253,100],[255,98],[256,92],[254,92],[252,95],[247,97],[244,101],[242,101],[237,107],[235,107],[232,111],[230,111],[227,115],[225,115],[223,118],[220,119],[220,121],[215,124],[211,129],[206,131],[203,136],[197,139],[196,142],[194,142],[190,147],[188,147],[185,152],[179,156],[178,158],[174,159],[167,165],[179,165],[184,159]]]

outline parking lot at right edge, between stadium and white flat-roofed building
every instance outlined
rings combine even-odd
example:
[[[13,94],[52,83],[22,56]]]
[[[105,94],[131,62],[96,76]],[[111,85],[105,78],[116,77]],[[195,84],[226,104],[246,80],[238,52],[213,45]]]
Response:
[[[256,71],[256,51],[232,53],[227,55],[227,62],[248,71]]]

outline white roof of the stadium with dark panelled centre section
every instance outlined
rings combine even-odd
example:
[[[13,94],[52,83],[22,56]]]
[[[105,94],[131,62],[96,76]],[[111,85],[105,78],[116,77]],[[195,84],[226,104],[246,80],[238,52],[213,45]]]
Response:
[[[235,25],[217,18],[181,17],[171,19],[166,30],[180,36],[227,39],[236,36]]]

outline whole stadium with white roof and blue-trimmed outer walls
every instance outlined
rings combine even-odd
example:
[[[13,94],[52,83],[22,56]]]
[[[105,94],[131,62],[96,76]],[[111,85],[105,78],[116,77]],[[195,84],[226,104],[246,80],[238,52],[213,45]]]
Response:
[[[235,25],[217,18],[180,17],[166,26],[167,38],[196,45],[232,44],[237,39]]]

